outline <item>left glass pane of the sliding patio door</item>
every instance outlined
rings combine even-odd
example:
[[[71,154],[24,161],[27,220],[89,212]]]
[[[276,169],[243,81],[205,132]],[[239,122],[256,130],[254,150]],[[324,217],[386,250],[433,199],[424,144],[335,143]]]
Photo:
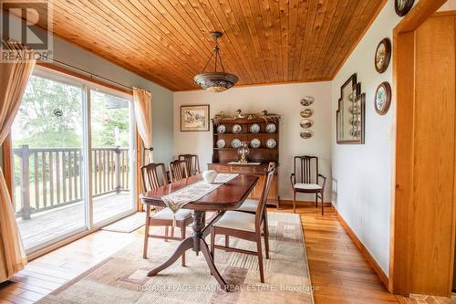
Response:
[[[32,76],[13,123],[13,200],[28,252],[86,227],[82,92]]]

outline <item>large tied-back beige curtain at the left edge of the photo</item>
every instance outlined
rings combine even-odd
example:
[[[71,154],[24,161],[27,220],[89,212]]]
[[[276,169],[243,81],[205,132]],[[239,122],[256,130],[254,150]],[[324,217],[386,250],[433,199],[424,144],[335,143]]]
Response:
[[[7,41],[4,46],[18,55],[16,60],[0,63],[0,144],[5,141],[26,90],[35,60],[31,50]],[[26,265],[26,254],[17,229],[15,211],[0,168],[0,282],[11,278]]]

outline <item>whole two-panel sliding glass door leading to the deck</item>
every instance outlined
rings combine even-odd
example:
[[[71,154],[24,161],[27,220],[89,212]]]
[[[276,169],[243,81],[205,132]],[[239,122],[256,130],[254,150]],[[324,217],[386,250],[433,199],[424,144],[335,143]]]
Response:
[[[131,109],[128,94],[36,68],[11,131],[28,254],[136,211]]]

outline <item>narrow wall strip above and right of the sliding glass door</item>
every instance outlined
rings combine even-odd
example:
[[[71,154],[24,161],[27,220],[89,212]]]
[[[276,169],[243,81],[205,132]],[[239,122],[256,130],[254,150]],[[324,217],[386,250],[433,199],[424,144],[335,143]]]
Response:
[[[5,13],[2,12],[1,14]],[[67,43],[59,37],[54,37],[53,43],[53,58],[58,61],[128,87],[148,89],[152,92],[154,159],[157,162],[169,162],[173,151],[172,91],[143,79],[80,47]]]

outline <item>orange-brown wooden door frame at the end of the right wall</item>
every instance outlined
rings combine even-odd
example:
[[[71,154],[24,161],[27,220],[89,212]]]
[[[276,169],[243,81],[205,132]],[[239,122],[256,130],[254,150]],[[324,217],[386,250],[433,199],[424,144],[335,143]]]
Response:
[[[413,171],[413,149],[409,140],[409,131],[413,129],[414,88],[414,31],[432,16],[447,0],[421,0],[393,30],[393,102],[396,118],[396,146],[393,170],[393,187],[391,192],[391,224],[389,251],[389,291],[394,294],[409,296],[409,259],[407,234],[408,218],[412,202],[411,183]],[[400,126],[400,130],[398,128]],[[400,146],[400,152],[398,147]],[[400,162],[400,166],[399,163]],[[399,185],[397,181],[402,181]],[[401,204],[396,204],[400,198]],[[454,235],[454,227],[453,227]],[[454,237],[453,237],[454,242]],[[454,247],[454,244],[453,244]],[[452,270],[451,270],[452,274]],[[451,287],[447,296],[451,296]]]

